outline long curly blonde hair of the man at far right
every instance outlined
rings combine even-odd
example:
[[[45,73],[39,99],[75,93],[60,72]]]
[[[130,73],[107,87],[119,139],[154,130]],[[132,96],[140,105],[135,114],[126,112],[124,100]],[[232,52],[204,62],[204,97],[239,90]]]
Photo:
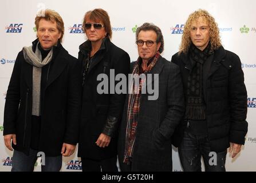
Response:
[[[218,24],[215,22],[215,19],[212,17],[212,15],[208,13],[208,11],[199,9],[194,13],[190,14],[187,19],[182,35],[182,43],[180,44],[179,48],[180,53],[187,53],[190,49],[190,45],[192,43],[190,38],[191,25],[199,17],[203,17],[210,28],[211,51],[216,50],[221,46]]]

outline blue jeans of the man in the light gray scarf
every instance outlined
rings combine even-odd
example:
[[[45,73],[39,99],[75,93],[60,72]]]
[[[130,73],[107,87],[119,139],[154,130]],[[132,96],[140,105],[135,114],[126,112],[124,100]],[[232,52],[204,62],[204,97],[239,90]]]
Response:
[[[30,149],[29,156],[18,150],[13,152],[13,168],[11,172],[33,172],[37,161],[38,150]],[[60,172],[62,156],[45,157],[45,165],[41,165],[42,172]]]

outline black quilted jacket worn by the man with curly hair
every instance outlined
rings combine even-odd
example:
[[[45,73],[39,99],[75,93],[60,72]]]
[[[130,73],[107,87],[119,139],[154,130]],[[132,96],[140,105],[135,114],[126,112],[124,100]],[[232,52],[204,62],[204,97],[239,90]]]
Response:
[[[176,53],[172,62],[180,67],[186,96],[187,78],[192,67],[189,55]],[[204,63],[202,74],[211,150],[223,152],[229,148],[230,142],[245,144],[247,92],[238,55],[219,47]],[[180,125],[176,129],[175,146],[179,146],[182,140],[183,127]]]

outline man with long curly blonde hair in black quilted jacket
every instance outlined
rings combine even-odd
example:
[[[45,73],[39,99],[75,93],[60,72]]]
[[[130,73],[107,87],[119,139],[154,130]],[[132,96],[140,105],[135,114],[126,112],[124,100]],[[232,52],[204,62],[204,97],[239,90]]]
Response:
[[[226,171],[227,148],[234,158],[245,144],[247,92],[241,61],[220,43],[215,19],[205,10],[190,14],[172,62],[180,67],[186,113],[176,129],[184,171]]]

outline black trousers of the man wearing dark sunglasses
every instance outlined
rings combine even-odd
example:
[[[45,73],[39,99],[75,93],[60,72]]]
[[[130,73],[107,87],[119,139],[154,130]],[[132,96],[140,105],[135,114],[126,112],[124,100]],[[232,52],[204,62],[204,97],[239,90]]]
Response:
[[[90,160],[81,158],[82,172],[118,172],[116,161],[117,157],[106,160]]]

